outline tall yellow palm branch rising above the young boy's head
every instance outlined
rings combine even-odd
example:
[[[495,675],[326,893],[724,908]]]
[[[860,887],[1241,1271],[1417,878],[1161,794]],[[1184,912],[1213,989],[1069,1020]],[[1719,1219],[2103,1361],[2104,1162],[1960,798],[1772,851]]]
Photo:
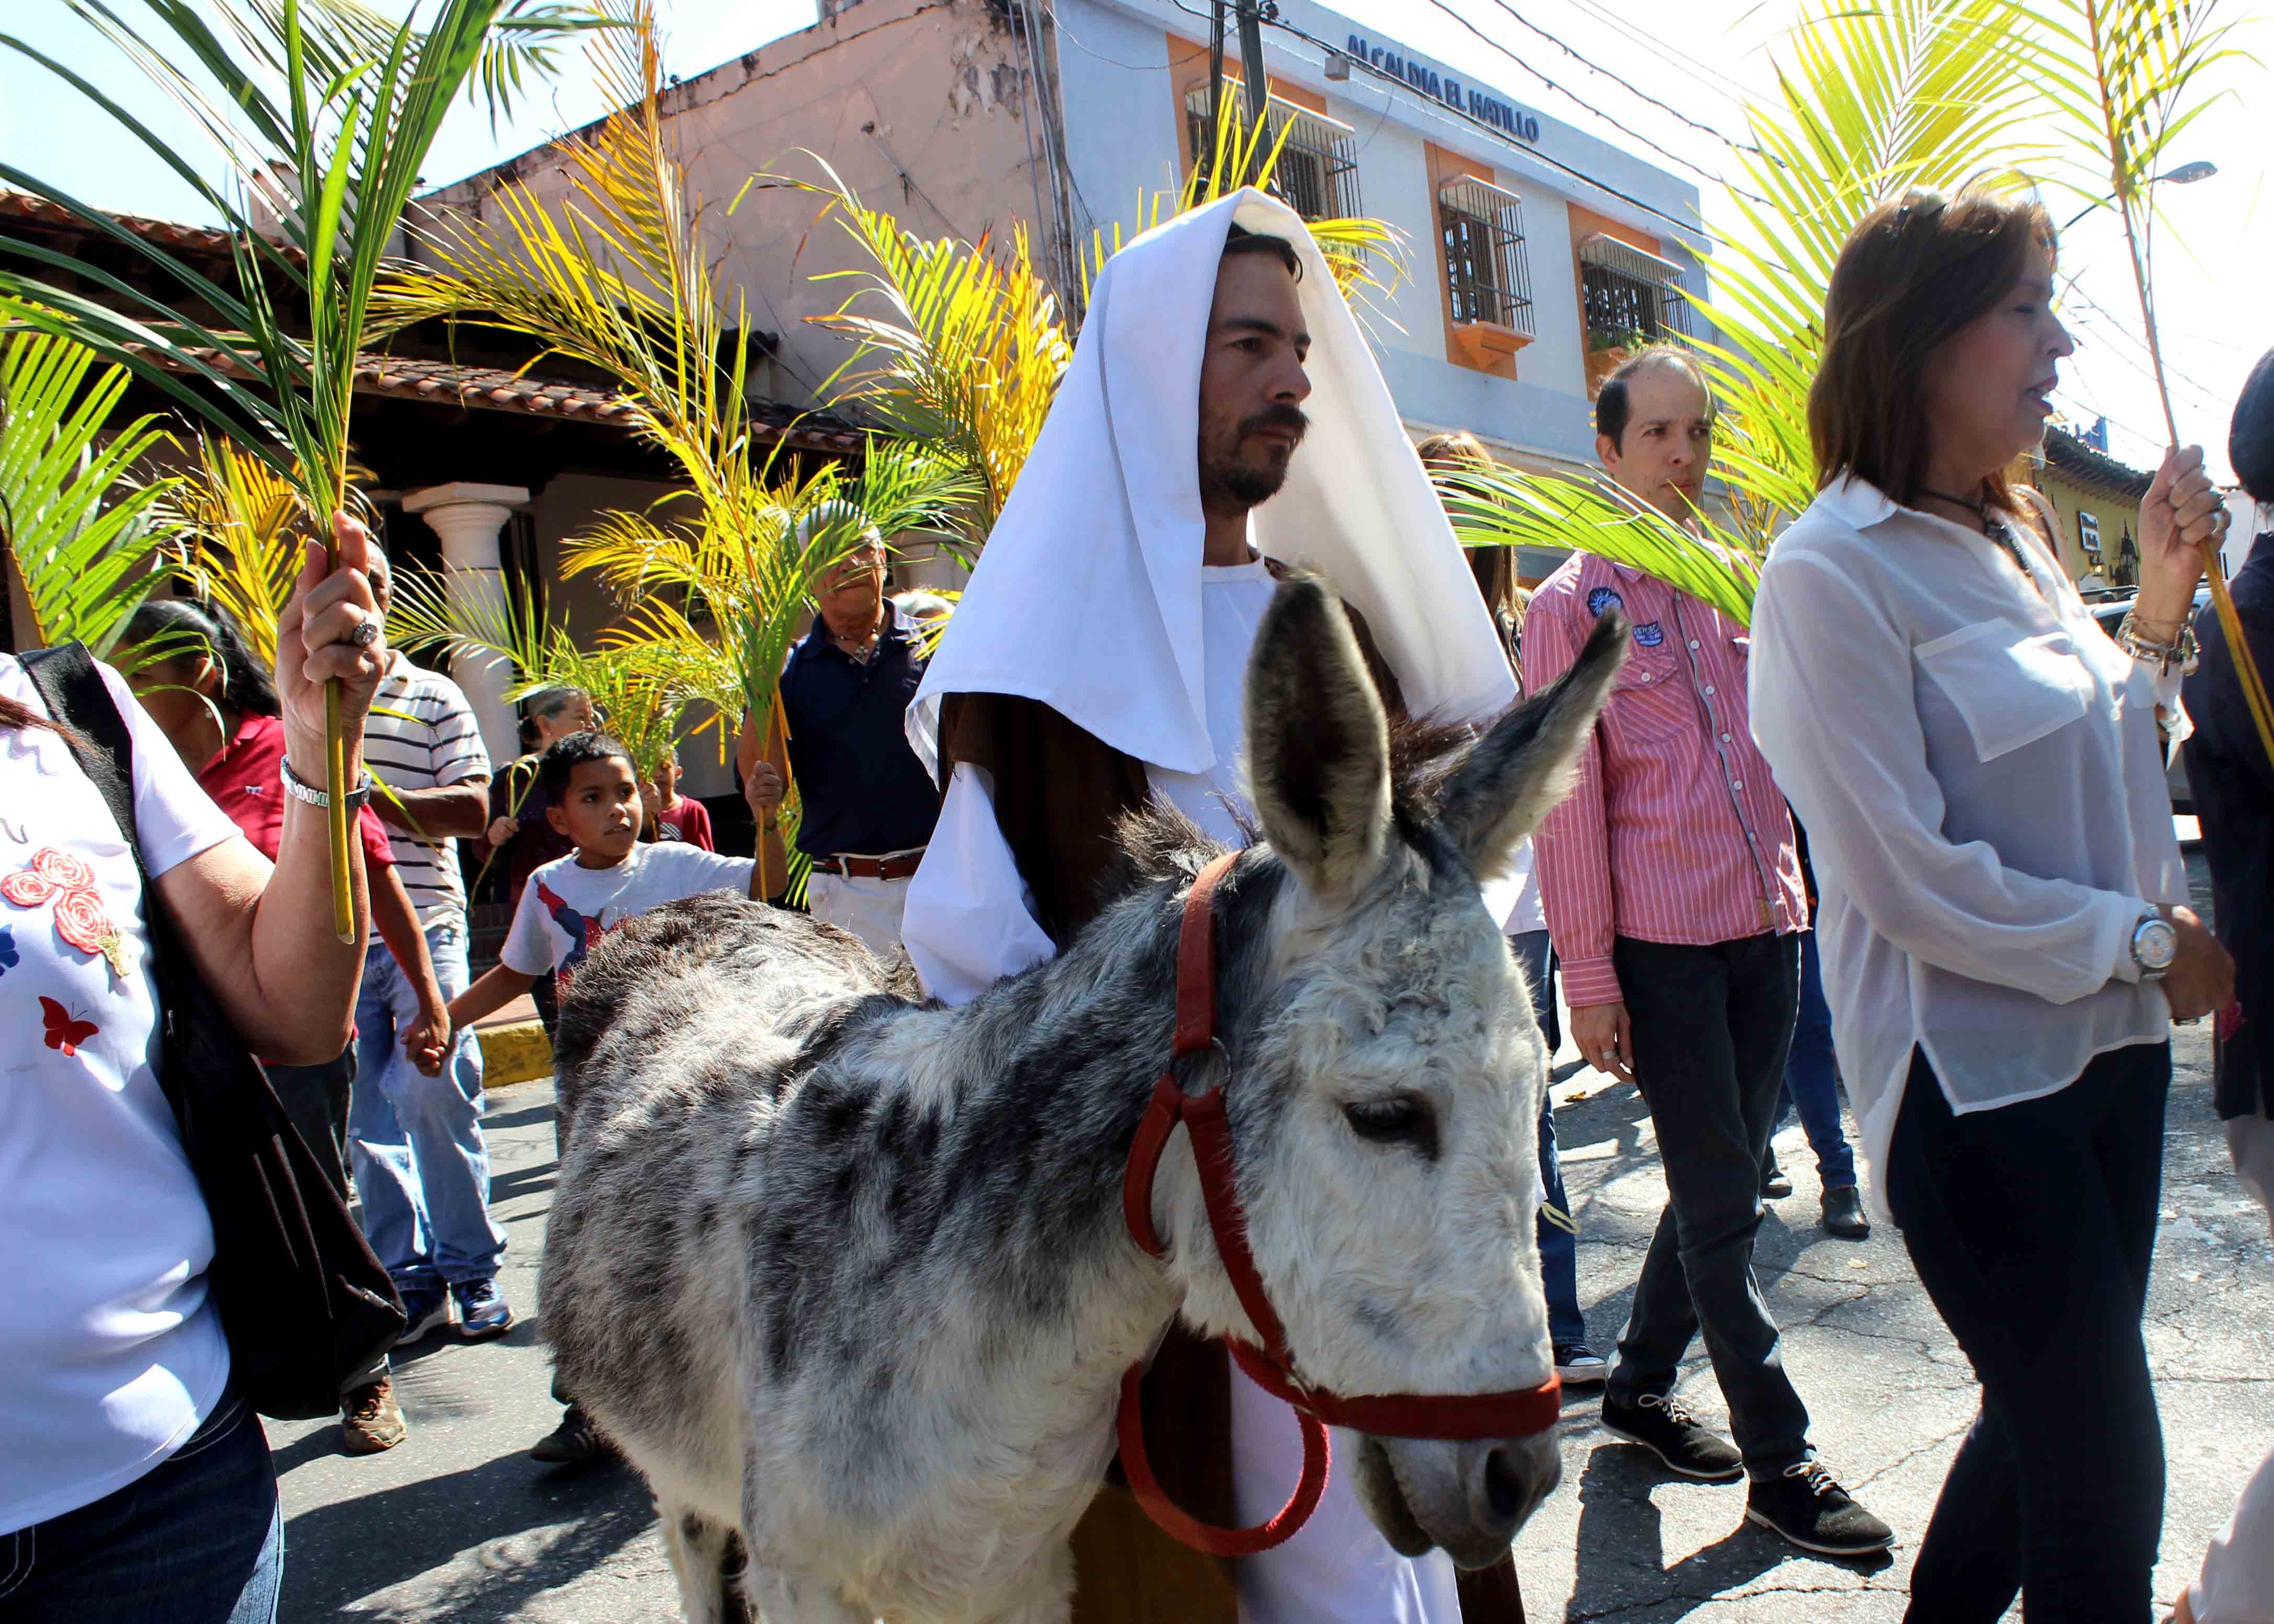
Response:
[[[875,441],[866,471],[760,448],[746,396],[746,323],[723,318],[703,252],[700,209],[664,132],[662,61],[648,7],[594,41],[603,89],[623,105],[559,146],[568,193],[546,205],[509,184],[487,223],[430,223],[434,273],[391,282],[389,323],[430,316],[534,337],[607,373],[625,423],[657,446],[682,491],[641,514],[603,514],[566,546],[568,573],[600,575],[628,605],[607,639],[682,662],[694,691],[730,723],[766,721],[789,635],[812,585],[860,546],[844,523],[800,525],[850,496],[882,532],[939,528],[973,500],[960,462]],[[721,362],[721,357],[725,357]]]

